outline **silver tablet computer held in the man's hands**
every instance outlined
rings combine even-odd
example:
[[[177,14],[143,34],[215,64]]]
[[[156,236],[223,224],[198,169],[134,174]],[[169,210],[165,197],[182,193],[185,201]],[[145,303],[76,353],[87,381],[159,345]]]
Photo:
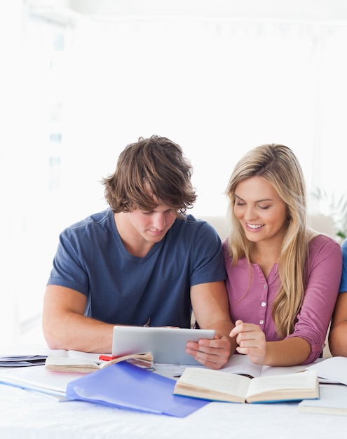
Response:
[[[215,330],[178,327],[115,326],[112,356],[151,352],[154,363],[200,365],[186,353],[187,342],[213,339]]]

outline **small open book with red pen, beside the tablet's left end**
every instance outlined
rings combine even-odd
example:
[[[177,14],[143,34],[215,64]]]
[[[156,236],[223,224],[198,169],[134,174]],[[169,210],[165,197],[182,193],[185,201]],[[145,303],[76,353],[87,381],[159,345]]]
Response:
[[[123,360],[128,360],[129,363],[143,367],[144,369],[153,370],[153,356],[150,352],[134,353],[118,358],[109,357],[109,360],[100,359],[105,357],[107,356],[100,355],[100,353],[64,351],[64,349],[55,349],[48,353],[45,367],[48,370],[55,370],[57,372],[89,373],[102,369],[102,367],[106,367]]]

